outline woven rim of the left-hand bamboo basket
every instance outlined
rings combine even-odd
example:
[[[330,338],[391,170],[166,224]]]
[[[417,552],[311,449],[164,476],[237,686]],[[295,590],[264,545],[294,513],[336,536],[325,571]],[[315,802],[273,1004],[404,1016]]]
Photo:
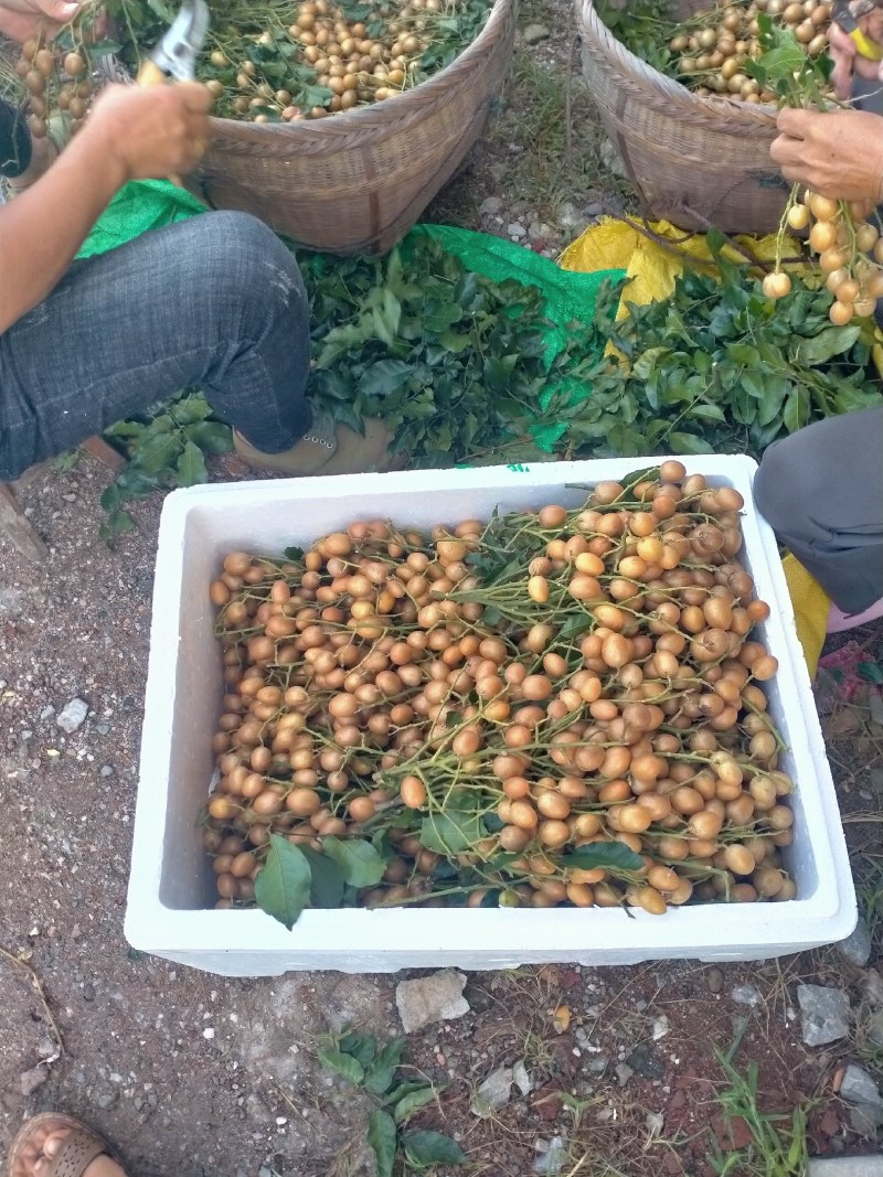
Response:
[[[514,8],[516,0],[494,0],[482,31],[463,53],[459,53],[444,69],[439,69],[426,81],[397,94],[394,98],[343,111],[328,118],[298,119],[297,122],[254,124],[212,115],[210,124],[214,138],[224,137],[228,141],[260,144],[264,147],[270,146],[272,141],[272,146],[278,148],[283,146],[285,140],[294,137],[300,137],[305,142],[316,146],[327,144],[328,140],[348,140],[353,137],[358,141],[358,139],[378,129],[394,127],[407,115],[413,114],[414,111],[429,105],[456,86],[462,74],[471,71],[479,59],[484,59],[487,46],[502,35]],[[287,146],[287,142],[285,145]],[[344,142],[338,146],[352,145]]]

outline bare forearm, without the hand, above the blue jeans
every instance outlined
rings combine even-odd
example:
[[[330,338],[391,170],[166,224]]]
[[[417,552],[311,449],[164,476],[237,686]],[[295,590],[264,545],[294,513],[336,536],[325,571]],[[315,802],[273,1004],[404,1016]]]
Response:
[[[125,180],[120,160],[87,129],[45,175],[0,207],[0,332],[53,290]]]

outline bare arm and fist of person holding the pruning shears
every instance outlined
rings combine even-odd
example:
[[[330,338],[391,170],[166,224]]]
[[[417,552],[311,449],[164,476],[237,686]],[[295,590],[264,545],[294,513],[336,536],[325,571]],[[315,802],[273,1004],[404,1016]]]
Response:
[[[0,206],[0,332],[46,298],[124,184],[193,168],[211,101],[195,82],[101,94],[46,174]]]

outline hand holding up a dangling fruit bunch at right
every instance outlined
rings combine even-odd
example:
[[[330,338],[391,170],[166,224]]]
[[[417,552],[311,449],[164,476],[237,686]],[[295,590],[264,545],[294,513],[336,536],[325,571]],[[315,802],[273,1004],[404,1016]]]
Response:
[[[883,118],[865,111],[795,111],[778,114],[770,155],[792,184],[832,200],[883,195]]]

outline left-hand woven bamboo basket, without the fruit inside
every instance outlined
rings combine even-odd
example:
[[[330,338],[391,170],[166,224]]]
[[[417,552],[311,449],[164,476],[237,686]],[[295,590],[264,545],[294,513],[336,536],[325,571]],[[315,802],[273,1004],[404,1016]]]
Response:
[[[517,0],[496,0],[476,40],[396,98],[288,124],[212,119],[203,195],[331,253],[385,253],[482,134],[512,56]]]

